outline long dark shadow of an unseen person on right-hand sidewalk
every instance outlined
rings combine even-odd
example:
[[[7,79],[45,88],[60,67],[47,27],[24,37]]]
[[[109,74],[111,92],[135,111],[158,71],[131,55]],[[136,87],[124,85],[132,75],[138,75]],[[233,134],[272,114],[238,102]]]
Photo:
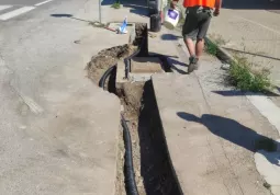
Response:
[[[200,123],[204,125],[212,134],[251,152],[256,152],[258,149],[264,149],[267,151],[276,150],[275,147],[277,147],[277,144],[275,140],[257,134],[255,130],[239,124],[234,119],[212,114],[203,114],[201,117],[198,117],[193,114],[184,112],[178,112],[177,115],[188,122]],[[260,140],[266,140],[262,146],[259,146],[259,144],[261,144]],[[267,158],[267,160],[273,164],[279,163],[279,159]]]

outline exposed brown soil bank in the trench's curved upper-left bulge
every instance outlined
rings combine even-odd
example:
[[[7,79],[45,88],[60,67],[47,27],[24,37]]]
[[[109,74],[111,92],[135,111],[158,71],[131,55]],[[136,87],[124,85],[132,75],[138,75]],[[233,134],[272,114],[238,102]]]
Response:
[[[99,82],[102,74],[119,60],[122,60],[137,49],[136,46],[125,44],[122,46],[103,49],[98,55],[93,56],[88,62],[88,77],[96,83]]]

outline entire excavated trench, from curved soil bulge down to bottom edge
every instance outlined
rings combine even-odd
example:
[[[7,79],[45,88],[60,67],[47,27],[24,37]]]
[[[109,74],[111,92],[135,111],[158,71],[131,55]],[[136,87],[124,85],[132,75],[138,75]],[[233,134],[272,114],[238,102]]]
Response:
[[[101,50],[88,64],[89,78],[98,83],[104,71],[117,60],[126,58],[137,49],[145,34],[145,24],[136,24],[133,45],[123,45]],[[152,81],[126,82],[115,89],[115,70],[107,82],[107,90],[115,93],[124,107],[123,115],[130,128],[133,147],[133,165],[139,195],[180,195],[180,186],[175,177],[168,157],[165,136],[159,118]],[[123,130],[119,134],[116,195],[126,195],[124,177]]]

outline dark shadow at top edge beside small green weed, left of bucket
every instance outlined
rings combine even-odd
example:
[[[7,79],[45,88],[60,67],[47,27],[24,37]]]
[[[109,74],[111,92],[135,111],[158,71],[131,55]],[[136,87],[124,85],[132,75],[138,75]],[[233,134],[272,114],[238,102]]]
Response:
[[[103,0],[101,5],[112,5],[114,2],[116,2],[116,0]],[[130,8],[131,13],[148,16],[147,0],[121,0],[121,4],[123,4],[124,8]]]

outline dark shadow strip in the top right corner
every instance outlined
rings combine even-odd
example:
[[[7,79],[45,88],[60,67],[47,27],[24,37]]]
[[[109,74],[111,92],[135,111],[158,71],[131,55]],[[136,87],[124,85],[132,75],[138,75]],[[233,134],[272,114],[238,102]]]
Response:
[[[280,10],[279,0],[224,0],[223,8],[238,10]],[[280,13],[280,12],[279,12]]]

